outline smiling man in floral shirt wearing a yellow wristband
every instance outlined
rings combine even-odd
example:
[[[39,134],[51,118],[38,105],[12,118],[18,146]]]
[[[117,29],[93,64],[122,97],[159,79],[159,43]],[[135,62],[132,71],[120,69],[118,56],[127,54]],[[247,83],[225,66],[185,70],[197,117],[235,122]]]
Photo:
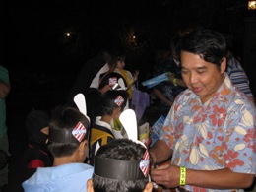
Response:
[[[160,140],[152,147],[152,179],[179,191],[242,191],[256,172],[256,109],[225,74],[226,44],[214,31],[182,39],[182,78]]]

